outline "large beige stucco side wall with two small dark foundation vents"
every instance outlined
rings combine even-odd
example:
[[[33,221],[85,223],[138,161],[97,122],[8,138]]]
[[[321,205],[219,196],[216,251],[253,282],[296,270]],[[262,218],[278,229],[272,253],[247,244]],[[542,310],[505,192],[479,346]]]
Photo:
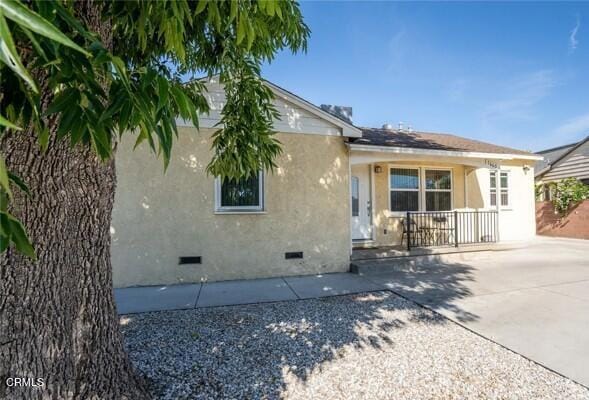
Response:
[[[168,171],[147,146],[117,154],[112,222],[115,287],[261,278],[349,269],[348,152],[341,136],[279,134],[265,214],[215,214],[210,130],[181,128]],[[284,253],[304,252],[285,260]],[[180,256],[202,264],[178,265]]]

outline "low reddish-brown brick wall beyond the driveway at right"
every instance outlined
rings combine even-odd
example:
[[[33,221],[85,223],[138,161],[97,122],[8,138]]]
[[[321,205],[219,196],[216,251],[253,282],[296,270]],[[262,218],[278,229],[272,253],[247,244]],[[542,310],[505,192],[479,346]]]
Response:
[[[589,239],[589,200],[578,204],[566,217],[556,214],[549,201],[536,203],[536,233]]]

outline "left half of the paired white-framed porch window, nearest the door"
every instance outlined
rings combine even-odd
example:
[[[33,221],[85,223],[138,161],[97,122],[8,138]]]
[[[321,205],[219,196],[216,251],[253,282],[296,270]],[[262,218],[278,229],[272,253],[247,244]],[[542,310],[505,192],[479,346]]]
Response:
[[[391,168],[391,211],[419,211],[419,169]]]

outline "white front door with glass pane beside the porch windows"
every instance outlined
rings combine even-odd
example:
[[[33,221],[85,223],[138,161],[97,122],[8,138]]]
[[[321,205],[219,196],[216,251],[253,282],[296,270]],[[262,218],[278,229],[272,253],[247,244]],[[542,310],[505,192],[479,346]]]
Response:
[[[352,239],[372,239],[370,166],[352,167]]]

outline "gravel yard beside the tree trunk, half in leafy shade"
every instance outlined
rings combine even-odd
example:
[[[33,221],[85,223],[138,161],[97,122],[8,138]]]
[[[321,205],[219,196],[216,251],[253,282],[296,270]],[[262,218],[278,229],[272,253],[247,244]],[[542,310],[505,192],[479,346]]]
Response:
[[[159,399],[589,399],[390,292],[121,317]]]

